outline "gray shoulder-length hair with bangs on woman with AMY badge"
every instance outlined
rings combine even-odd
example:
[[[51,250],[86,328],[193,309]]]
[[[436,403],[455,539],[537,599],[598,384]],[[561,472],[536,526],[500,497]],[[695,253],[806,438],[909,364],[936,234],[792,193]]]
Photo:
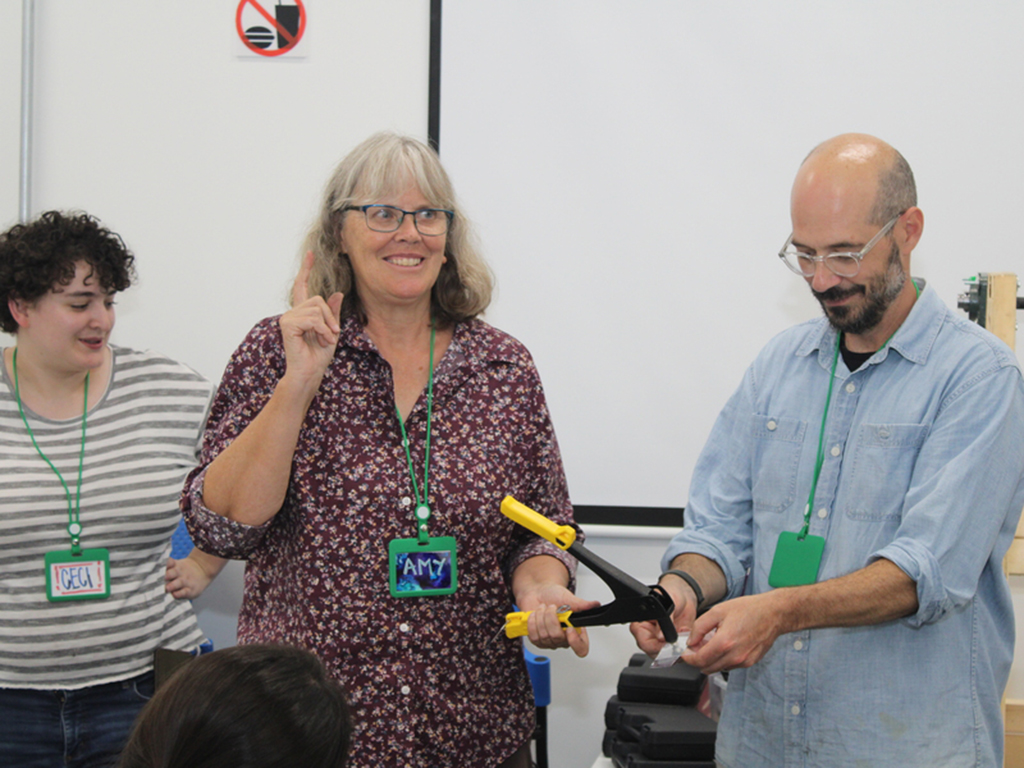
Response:
[[[319,214],[303,243],[302,252],[313,254],[309,295],[327,299],[341,292],[342,318],[355,314],[362,323],[366,312],[347,254],[339,236],[345,208],[368,205],[416,183],[430,206],[455,211],[449,226],[444,255],[437,282],[430,295],[434,321],[442,327],[475,317],[490,303],[494,278],[480,256],[472,226],[462,212],[452,182],[437,154],[422,141],[395,133],[375,133],[341,161],[324,188]]]

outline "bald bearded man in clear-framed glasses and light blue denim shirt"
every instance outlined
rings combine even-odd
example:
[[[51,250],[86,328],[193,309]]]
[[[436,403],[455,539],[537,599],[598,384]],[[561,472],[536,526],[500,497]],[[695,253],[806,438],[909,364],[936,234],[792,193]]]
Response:
[[[1020,369],[910,279],[924,215],[893,147],[825,141],[791,203],[779,255],[824,317],[748,370],[663,560],[683,660],[732,671],[717,760],[1000,766]],[[662,648],[655,625],[632,630]]]

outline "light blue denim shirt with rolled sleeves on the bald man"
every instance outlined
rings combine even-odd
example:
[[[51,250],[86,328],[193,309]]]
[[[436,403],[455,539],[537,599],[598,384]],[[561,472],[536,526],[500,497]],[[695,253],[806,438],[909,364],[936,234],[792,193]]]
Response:
[[[696,552],[728,597],[771,589],[778,535],[803,522],[836,333],[773,339],[693,473],[663,567]],[[1001,562],[1024,506],[1024,381],[1013,352],[922,292],[888,346],[840,357],[810,532],[819,581],[880,558],[916,583],[900,621],[783,635],[730,673],[718,760],[754,766],[1001,766],[1014,650]]]

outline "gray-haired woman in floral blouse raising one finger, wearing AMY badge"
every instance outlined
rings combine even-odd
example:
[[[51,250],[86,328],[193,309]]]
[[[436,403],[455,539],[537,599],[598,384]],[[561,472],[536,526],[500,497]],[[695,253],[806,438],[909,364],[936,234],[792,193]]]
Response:
[[[574,561],[499,512],[572,523],[540,378],[479,319],[490,275],[435,153],[394,134],[327,185],[293,307],[228,364],[183,509],[248,560],[239,640],[315,651],[351,697],[351,765],[526,766],[530,639],[583,655]]]

